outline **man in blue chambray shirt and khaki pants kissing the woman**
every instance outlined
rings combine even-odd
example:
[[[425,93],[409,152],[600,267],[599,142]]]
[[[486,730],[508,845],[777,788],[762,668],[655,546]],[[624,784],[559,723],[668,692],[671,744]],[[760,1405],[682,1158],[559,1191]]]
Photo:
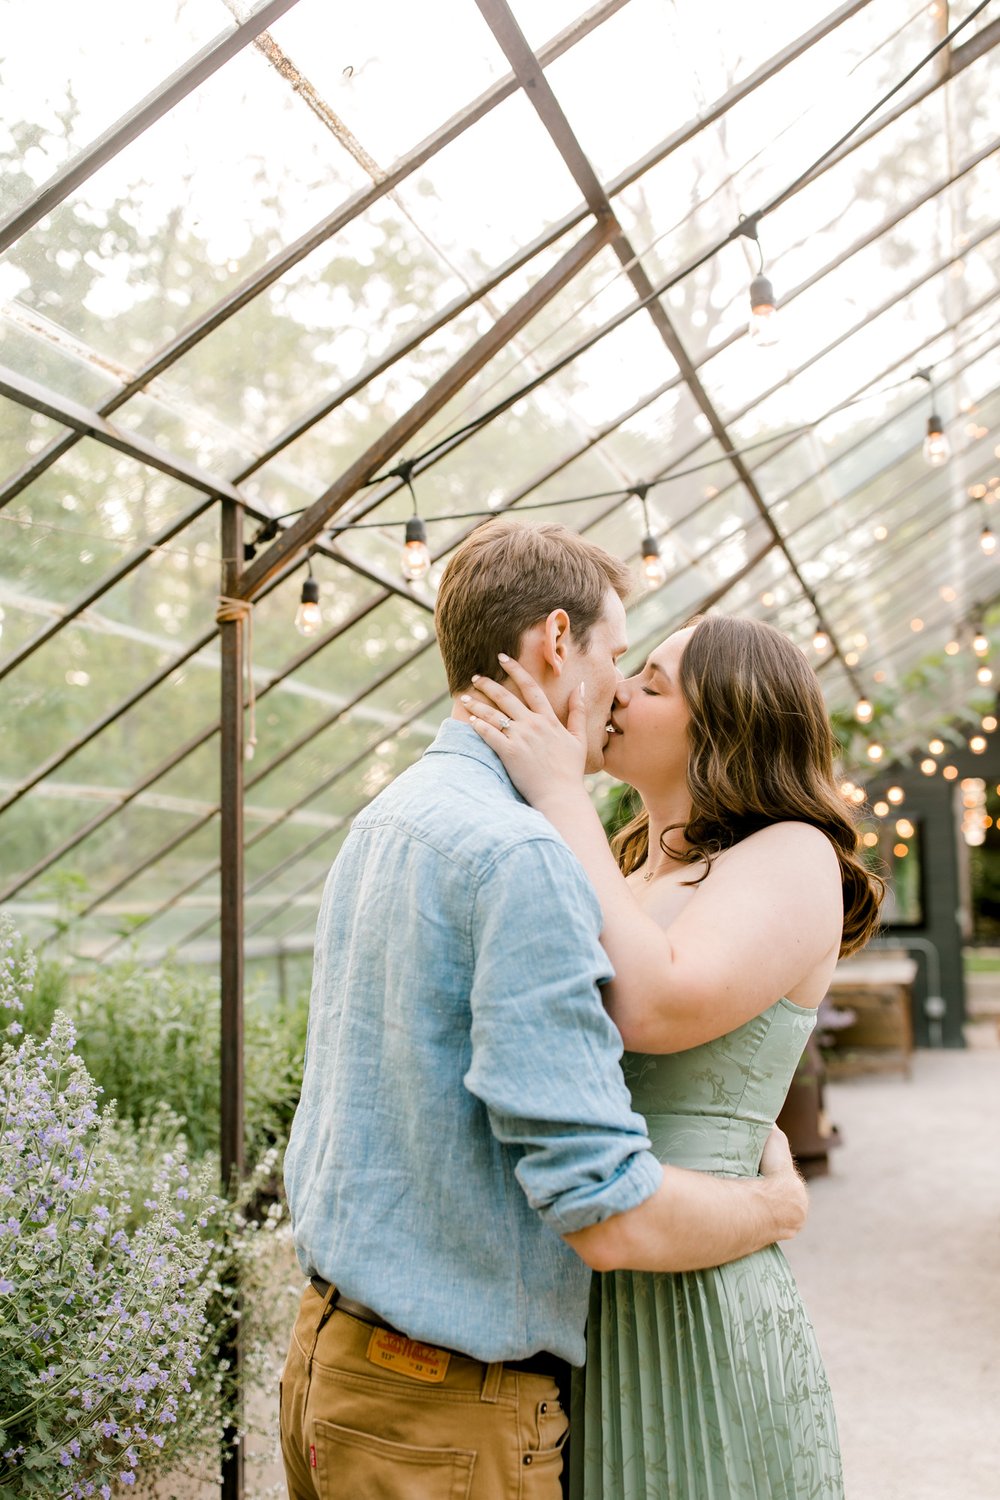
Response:
[[[438,594],[453,716],[330,873],[285,1162],[292,1500],[558,1500],[591,1268],[714,1266],[802,1222],[783,1140],[756,1182],[652,1156],[594,891],[460,702],[501,651],[562,718],[583,682],[600,768],[628,588],[562,526],[478,528]]]

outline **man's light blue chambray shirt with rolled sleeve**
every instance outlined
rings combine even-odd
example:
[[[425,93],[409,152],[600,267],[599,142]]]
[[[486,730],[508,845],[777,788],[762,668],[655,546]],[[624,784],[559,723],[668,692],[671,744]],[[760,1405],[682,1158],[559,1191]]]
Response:
[[[447,720],[324,891],[285,1158],[306,1275],[411,1338],[583,1364],[591,1274],[561,1234],[663,1172],[601,1005],[600,927],[568,846]]]

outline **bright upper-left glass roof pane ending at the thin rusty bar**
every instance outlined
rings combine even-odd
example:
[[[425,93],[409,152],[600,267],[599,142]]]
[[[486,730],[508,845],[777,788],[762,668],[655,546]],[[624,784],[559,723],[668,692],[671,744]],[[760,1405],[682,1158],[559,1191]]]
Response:
[[[109,357],[138,368],[369,180],[250,48],[22,236],[4,262],[28,278],[22,308],[43,310],[96,364]]]

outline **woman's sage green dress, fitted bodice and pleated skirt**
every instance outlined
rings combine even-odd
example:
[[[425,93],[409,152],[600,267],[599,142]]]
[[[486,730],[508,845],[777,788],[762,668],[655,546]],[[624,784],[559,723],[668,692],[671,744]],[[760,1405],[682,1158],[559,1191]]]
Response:
[[[814,1024],[783,999],[690,1052],[625,1053],[657,1156],[756,1176]],[[597,1275],[571,1432],[573,1500],[844,1494],[829,1384],[777,1245],[714,1270]]]

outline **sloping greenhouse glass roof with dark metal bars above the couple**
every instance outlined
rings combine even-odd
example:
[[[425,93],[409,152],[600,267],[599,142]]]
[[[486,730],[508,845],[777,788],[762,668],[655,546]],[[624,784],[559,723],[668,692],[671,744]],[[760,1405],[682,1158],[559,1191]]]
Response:
[[[997,12],[108,0],[97,34],[67,0],[7,0],[21,930],[217,952],[225,594],[253,604],[247,951],[306,945],[349,819],[447,711],[435,582],[484,513],[631,560],[636,656],[705,608],[786,630],[852,734],[846,774],[874,735],[907,759],[987,711]],[[747,328],[762,267],[774,345]],[[409,584],[414,502],[433,566]]]

